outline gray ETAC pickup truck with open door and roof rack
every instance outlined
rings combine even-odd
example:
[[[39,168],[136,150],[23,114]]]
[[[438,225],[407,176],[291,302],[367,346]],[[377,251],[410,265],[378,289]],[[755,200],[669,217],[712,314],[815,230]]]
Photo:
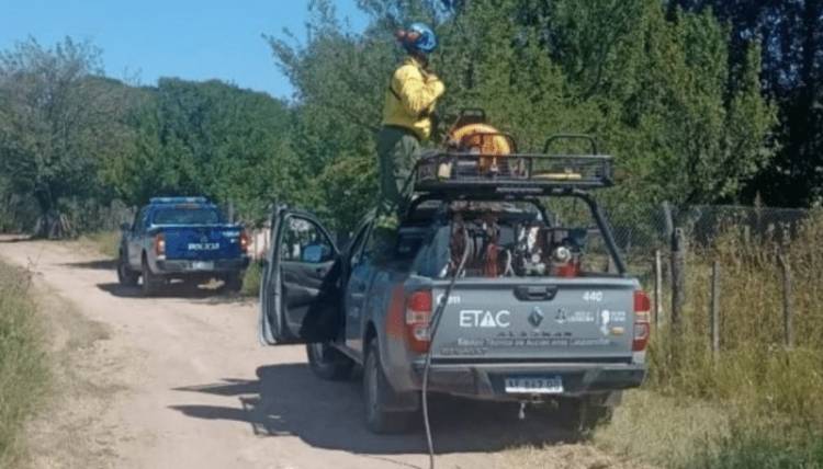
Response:
[[[372,215],[342,250],[311,214],[272,215],[260,341],[306,343],[324,379],[362,367],[375,433],[405,430],[418,411],[427,354],[430,391],[552,401],[577,430],[645,376],[650,300],[590,195],[611,184],[611,159],[483,158],[443,151],[417,164],[390,253]]]

